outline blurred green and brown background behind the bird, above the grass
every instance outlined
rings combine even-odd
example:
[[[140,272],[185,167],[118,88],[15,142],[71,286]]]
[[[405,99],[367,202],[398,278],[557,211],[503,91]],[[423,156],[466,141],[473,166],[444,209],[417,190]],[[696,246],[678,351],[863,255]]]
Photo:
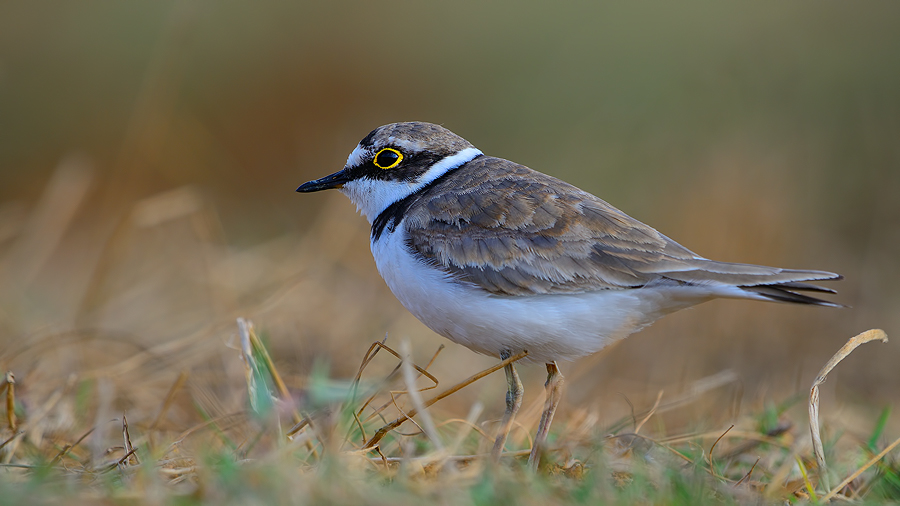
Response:
[[[846,276],[832,286],[852,309],[673,315],[566,365],[582,378],[568,402],[652,401],[722,369],[750,394],[802,392],[851,335],[900,327],[897,2],[12,1],[0,342],[103,335],[99,355],[115,355],[109,342],[215,322],[204,338],[221,346],[243,315],[298,371],[325,358],[351,375],[385,331],[430,356],[444,341],[389,295],[365,220],[340,195],[294,193],[408,120],[573,182],[701,255]],[[78,343],[63,369],[100,360]],[[896,399],[900,349],[870,346],[823,395]],[[445,375],[491,363],[455,348]],[[38,367],[21,357],[0,365]]]

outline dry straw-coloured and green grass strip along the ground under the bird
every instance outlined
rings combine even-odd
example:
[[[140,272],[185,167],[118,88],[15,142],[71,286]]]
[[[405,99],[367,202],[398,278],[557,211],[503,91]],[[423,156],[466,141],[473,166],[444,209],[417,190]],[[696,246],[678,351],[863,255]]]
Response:
[[[155,402],[128,410],[130,423],[125,411],[113,410],[115,387],[109,376],[70,377],[41,396],[38,388],[18,394],[8,374],[7,427],[0,445],[0,479],[8,491],[3,500],[718,504],[818,502],[818,497],[878,501],[896,500],[900,494],[896,459],[885,458],[900,440],[883,449],[879,443],[886,417],[867,444],[852,449],[856,443],[851,442],[851,454],[835,459],[831,472],[847,479],[831,490],[824,461],[819,459],[817,466],[818,454],[798,419],[802,410],[793,409],[796,401],[718,430],[644,430],[654,417],[702,400],[708,385],[678,398],[659,392],[652,406],[611,426],[598,424],[596,412],[573,410],[559,420],[551,451],[534,475],[525,466],[530,441],[521,438],[515,445],[519,448],[506,452],[499,466],[491,463],[496,424],[482,419],[479,404],[465,418],[431,409],[524,355],[444,387],[428,372],[440,360],[440,348],[420,366],[404,358],[410,355],[408,345],[400,354],[382,341],[362,354],[352,380],[333,380],[318,370],[289,378],[303,384],[290,389],[252,323],[239,319],[238,329],[240,346],[219,345],[227,350],[221,358],[231,364],[218,372],[198,368],[175,375]],[[872,332],[874,337],[883,337],[878,332]],[[169,350],[186,348],[187,343],[180,343]],[[138,374],[118,383],[117,397],[154,397],[143,391],[149,385],[141,381],[152,375],[147,356],[140,351],[124,358]],[[387,373],[370,372],[379,361]],[[243,367],[229,367],[237,363]],[[204,380],[211,372],[218,385]],[[718,375],[706,383],[715,388],[732,380]],[[815,406],[816,412],[817,402],[813,395],[810,409]],[[814,418],[811,425],[818,427],[817,422]],[[533,432],[533,427],[518,429]],[[821,441],[816,442],[820,448]],[[823,455],[835,455],[838,448],[848,451],[846,447],[835,438]],[[853,467],[854,461],[866,459]]]

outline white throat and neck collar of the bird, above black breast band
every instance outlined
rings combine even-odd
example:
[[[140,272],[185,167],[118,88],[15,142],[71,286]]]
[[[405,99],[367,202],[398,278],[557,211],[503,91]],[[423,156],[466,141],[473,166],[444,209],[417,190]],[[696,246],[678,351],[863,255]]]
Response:
[[[348,162],[354,158],[360,158],[356,151],[353,150]],[[356,204],[356,208],[369,220],[369,223],[372,223],[382,211],[394,202],[412,195],[435,179],[482,154],[478,149],[466,148],[432,165],[430,169],[415,181],[385,181],[382,179],[362,178],[344,183],[340,192],[349,197]]]

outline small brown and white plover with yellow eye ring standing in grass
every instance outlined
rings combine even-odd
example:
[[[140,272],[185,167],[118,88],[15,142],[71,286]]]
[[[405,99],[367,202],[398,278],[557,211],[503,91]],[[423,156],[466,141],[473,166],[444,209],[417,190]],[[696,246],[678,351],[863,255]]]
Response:
[[[380,126],[344,167],[298,192],[337,189],[371,225],[387,286],[423,324],[475,352],[546,364],[537,468],[562,396],[557,362],[595,353],[657,319],[715,298],[842,307],[809,293],[839,274],[709,260],[606,201],[484,154],[443,126]],[[806,293],[802,293],[806,292]],[[522,403],[504,366],[495,461]]]

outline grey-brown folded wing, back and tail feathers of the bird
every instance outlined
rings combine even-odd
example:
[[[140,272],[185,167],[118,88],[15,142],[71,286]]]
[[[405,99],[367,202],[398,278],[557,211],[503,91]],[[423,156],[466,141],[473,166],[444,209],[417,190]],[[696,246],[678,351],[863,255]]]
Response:
[[[409,248],[499,295],[671,282],[772,285],[754,293],[807,302],[784,292],[828,291],[802,282],[837,277],[707,260],[587,192],[499,158],[479,157],[416,199],[405,217]]]

